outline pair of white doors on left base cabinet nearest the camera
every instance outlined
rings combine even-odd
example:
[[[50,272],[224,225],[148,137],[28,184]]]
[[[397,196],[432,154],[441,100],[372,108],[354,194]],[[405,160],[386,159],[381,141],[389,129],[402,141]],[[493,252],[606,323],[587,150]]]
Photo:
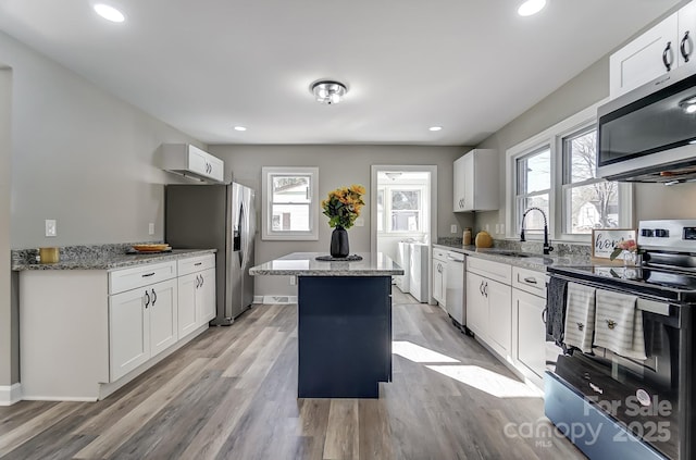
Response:
[[[115,382],[178,339],[176,279],[109,299],[110,382]]]

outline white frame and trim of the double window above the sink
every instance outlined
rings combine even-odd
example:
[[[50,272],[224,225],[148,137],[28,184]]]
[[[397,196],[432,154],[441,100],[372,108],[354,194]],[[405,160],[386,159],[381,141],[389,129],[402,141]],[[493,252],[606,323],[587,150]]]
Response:
[[[517,201],[517,160],[526,154],[540,150],[544,146],[549,146],[551,150],[550,160],[550,191],[549,191],[549,214],[548,227],[549,238],[564,243],[591,243],[591,234],[572,234],[566,233],[564,220],[567,219],[567,210],[564,207],[564,139],[572,137],[583,130],[591,129],[597,125],[597,108],[607,102],[604,99],[568,119],[557,123],[556,125],[545,129],[544,132],[511,147],[506,152],[506,238],[519,239],[519,214]],[[583,181],[582,183],[572,184],[573,187],[580,185],[592,184],[601,179]],[[630,183],[619,183],[619,227],[633,228],[633,185]],[[529,239],[543,238],[542,233],[530,233]]]

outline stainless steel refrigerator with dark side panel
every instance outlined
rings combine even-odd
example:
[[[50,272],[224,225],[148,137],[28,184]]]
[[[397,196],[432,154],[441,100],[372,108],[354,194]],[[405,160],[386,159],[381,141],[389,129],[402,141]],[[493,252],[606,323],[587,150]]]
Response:
[[[217,249],[213,325],[229,325],[253,302],[254,191],[240,184],[166,185],[164,240],[174,249]]]

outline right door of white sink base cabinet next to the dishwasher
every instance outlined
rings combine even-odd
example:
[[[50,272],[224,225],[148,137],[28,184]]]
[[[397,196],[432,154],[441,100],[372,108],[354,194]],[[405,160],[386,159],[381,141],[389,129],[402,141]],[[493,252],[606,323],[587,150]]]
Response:
[[[510,353],[512,339],[512,288],[493,279],[486,279],[484,294],[488,300],[489,345],[502,357],[507,357]]]

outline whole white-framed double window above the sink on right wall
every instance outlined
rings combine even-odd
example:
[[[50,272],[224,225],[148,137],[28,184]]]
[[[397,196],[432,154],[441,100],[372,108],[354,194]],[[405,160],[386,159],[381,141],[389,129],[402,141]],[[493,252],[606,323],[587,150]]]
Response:
[[[519,237],[522,215],[533,207],[544,210],[557,240],[588,240],[593,228],[632,226],[631,185],[596,177],[598,105],[508,150],[508,237]],[[540,238],[543,226],[539,212],[524,220],[532,238]]]

